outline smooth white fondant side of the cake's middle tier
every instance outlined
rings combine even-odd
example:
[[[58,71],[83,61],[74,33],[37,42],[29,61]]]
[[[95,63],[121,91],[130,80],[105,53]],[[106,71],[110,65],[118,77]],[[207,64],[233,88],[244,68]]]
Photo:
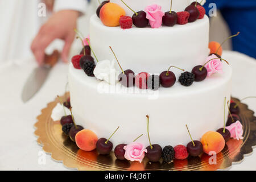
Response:
[[[209,54],[209,19],[174,27],[106,27],[93,15],[90,19],[90,42],[99,60],[113,60],[112,46],[123,69],[135,73],[160,73],[175,65],[191,71],[205,63]],[[175,73],[179,70],[173,69]]]

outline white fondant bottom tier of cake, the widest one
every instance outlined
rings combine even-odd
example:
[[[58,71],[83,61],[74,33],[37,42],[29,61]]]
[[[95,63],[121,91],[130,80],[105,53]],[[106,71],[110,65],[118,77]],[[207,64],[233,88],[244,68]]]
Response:
[[[138,142],[148,146],[147,118],[152,143],[176,146],[195,140],[207,131],[224,125],[224,98],[230,99],[232,68],[224,64],[224,73],[215,73],[202,82],[185,87],[179,82],[158,91],[127,88],[88,77],[81,69],[69,67],[71,105],[77,124],[94,131],[98,138],[108,138],[114,146]],[[226,117],[228,111],[226,110]]]

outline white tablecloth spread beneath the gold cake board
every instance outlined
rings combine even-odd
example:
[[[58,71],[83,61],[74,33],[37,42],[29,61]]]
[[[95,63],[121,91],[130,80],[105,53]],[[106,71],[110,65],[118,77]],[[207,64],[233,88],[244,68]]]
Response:
[[[233,66],[233,97],[256,96],[256,60],[237,52],[222,56]],[[46,155],[46,164],[39,164],[42,147],[36,142],[33,125],[40,110],[59,94],[64,93],[68,65],[59,63],[53,68],[43,88],[32,100],[23,104],[23,85],[36,67],[34,60],[8,61],[0,67],[0,169],[1,170],[67,170],[61,163]],[[256,100],[244,101],[256,111]],[[256,152],[246,156],[232,170],[256,170]]]

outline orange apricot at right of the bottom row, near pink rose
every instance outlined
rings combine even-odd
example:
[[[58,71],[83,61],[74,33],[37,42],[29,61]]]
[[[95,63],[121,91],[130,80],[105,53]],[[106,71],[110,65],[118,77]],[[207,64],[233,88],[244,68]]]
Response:
[[[203,144],[203,151],[209,154],[210,151],[216,152],[218,154],[225,147],[225,140],[222,135],[216,131],[208,131],[201,138],[201,143]]]

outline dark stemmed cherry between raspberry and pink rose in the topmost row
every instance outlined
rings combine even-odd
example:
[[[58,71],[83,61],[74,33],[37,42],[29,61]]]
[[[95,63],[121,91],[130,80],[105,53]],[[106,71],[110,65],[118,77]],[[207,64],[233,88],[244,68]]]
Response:
[[[123,0],[121,0],[123,2]],[[131,9],[128,5],[126,5],[125,2],[123,2],[125,6],[127,6],[131,11],[133,11],[133,24],[138,28],[144,28],[148,26],[149,20],[146,18],[147,13],[145,11],[138,11],[135,12],[133,9]]]

